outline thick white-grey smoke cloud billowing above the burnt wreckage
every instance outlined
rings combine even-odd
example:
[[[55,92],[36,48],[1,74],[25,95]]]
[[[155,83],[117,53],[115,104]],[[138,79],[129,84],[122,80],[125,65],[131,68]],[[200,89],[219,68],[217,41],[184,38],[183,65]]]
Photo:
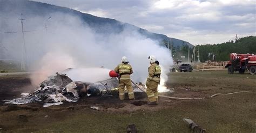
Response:
[[[21,31],[19,15],[1,14],[1,32]],[[125,27],[118,34],[111,29],[108,34],[96,33],[79,17],[59,12],[47,16],[24,15],[24,18],[24,31],[33,31],[24,33],[28,67],[30,71],[41,73],[31,77],[34,84],[67,68],[79,68],[79,71],[68,73],[68,76],[75,77],[73,80],[101,80],[121,63],[122,56],[126,56],[132,65],[134,73],[131,78],[145,82],[150,65],[147,57],[150,55],[157,57],[163,69],[161,79],[167,80],[166,73],[172,65],[170,51],[136,29]],[[0,43],[10,51],[12,58],[22,61],[22,33],[1,34]],[[104,71],[95,69],[100,67],[104,67]]]

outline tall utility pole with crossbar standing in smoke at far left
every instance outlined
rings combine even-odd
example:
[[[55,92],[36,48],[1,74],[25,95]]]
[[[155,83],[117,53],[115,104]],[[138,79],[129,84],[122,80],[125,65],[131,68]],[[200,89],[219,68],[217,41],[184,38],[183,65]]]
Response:
[[[21,70],[24,71],[26,69],[26,63],[28,60],[27,60],[27,55],[26,55],[26,45],[25,45],[25,38],[24,38],[23,20],[25,20],[25,19],[23,19],[23,14],[22,14],[22,18],[20,20],[21,20],[21,24],[22,24],[22,37],[23,37]]]

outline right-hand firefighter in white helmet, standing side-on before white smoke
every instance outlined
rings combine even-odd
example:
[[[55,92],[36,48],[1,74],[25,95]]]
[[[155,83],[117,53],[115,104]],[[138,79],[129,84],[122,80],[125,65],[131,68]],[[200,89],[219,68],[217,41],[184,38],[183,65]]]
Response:
[[[160,84],[160,75],[161,68],[159,67],[159,62],[156,60],[156,57],[151,55],[149,56],[150,67],[149,67],[149,76],[146,81],[146,93],[148,105],[157,105],[158,104],[158,92],[157,87]]]

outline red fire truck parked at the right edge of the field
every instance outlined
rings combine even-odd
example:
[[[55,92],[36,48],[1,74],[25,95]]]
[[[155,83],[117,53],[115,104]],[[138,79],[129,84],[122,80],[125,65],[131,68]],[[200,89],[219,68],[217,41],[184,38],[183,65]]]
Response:
[[[227,72],[233,74],[234,71],[245,73],[248,70],[252,75],[256,73],[256,55],[253,54],[230,54],[230,61],[225,65]]]

